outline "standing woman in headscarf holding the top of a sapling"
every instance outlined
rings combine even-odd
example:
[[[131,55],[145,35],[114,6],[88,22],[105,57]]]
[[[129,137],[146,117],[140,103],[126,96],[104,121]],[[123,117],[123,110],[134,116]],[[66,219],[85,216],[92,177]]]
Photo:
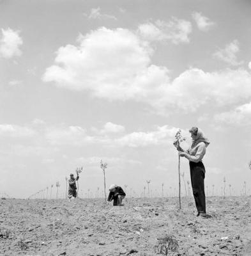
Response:
[[[177,143],[174,143],[174,146],[179,151],[179,156],[186,157],[189,160],[192,190],[198,211],[197,216],[209,218],[210,216],[206,214],[206,196],[204,191],[206,170],[202,163],[202,158],[206,154],[206,147],[208,147],[209,141],[198,127],[192,127],[189,132],[192,137],[192,145],[188,150],[183,150]]]

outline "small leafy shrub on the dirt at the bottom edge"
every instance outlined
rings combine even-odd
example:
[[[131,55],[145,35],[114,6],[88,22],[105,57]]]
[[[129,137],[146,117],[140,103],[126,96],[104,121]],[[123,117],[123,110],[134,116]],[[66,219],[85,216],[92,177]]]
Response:
[[[169,252],[178,252],[178,248],[179,243],[173,236],[166,235],[158,238],[156,252],[167,256]]]

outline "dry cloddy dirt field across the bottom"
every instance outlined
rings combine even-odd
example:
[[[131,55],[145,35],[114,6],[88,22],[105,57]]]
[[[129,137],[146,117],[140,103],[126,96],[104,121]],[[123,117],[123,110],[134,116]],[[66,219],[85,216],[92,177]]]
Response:
[[[195,216],[192,198],[181,211],[178,198],[127,198],[123,207],[0,200],[0,255],[160,255],[157,244],[168,236],[178,252],[167,255],[251,255],[250,199],[208,198],[210,219]]]

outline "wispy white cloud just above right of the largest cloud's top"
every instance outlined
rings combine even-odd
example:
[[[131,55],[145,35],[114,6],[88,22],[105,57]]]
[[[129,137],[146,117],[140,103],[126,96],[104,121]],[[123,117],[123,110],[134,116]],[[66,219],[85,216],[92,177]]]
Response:
[[[192,25],[187,20],[172,17],[169,22],[156,20],[155,23],[139,25],[139,34],[149,41],[167,41],[173,44],[188,43],[188,37],[192,33]]]

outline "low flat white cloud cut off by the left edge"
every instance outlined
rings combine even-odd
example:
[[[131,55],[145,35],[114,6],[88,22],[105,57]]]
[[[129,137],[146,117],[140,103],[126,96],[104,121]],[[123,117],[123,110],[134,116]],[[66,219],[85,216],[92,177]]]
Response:
[[[0,124],[0,136],[2,138],[30,138],[35,134],[36,132],[29,127],[12,124]]]

